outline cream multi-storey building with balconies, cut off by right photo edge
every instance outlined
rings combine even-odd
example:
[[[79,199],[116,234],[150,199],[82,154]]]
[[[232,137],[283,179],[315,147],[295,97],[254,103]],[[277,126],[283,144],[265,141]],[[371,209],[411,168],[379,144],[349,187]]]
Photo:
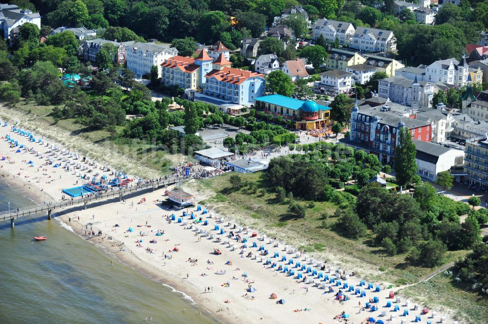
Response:
[[[464,182],[473,190],[488,189],[488,138],[468,139],[465,147]]]

